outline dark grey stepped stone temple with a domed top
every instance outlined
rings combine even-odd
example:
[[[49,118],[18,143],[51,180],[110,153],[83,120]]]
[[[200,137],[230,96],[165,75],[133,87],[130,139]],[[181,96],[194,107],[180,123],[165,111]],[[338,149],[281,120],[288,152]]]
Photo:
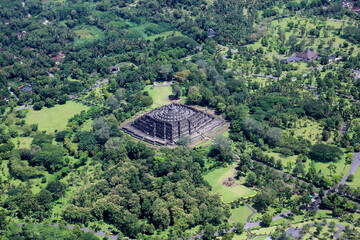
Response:
[[[225,125],[225,121],[208,113],[172,103],[137,118],[123,131],[150,144],[174,146],[180,136],[188,136],[195,142]]]

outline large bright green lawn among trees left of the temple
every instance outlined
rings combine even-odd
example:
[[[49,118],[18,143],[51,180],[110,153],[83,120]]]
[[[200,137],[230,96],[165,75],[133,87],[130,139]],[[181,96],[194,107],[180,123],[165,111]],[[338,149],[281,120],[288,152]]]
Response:
[[[82,110],[88,110],[89,107],[68,101],[64,105],[56,105],[52,108],[43,108],[40,111],[30,109],[27,113],[25,121],[27,124],[39,124],[40,131],[54,132],[55,130],[63,130],[66,128],[67,120]]]

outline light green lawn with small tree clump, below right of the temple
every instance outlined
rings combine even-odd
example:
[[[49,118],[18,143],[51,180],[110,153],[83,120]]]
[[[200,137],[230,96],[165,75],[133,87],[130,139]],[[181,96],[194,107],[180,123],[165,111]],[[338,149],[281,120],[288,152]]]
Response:
[[[226,179],[235,176],[234,167],[235,166],[230,165],[226,168],[215,169],[214,171],[211,171],[204,176],[204,179],[212,186],[212,192],[219,193],[222,196],[224,202],[232,202],[241,197],[249,197],[256,194],[256,191],[245,187],[238,180],[236,180],[235,183],[230,187],[227,187],[223,184]]]

